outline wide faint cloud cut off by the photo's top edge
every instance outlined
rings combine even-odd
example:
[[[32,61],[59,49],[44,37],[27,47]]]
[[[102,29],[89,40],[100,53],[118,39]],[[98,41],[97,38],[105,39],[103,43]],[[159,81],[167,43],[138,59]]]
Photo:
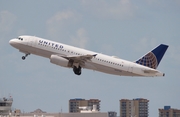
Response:
[[[82,0],[84,9],[100,18],[128,19],[133,16],[136,7],[129,0],[87,1]]]

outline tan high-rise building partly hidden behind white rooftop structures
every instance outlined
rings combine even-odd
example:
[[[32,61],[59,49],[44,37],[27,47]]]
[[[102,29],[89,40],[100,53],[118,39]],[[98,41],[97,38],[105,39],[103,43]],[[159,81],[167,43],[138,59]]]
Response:
[[[90,99],[85,100],[81,98],[75,98],[69,100],[69,113],[80,113],[79,107],[89,107],[90,110],[93,109],[93,105],[96,105],[97,110],[100,111],[100,100]]]

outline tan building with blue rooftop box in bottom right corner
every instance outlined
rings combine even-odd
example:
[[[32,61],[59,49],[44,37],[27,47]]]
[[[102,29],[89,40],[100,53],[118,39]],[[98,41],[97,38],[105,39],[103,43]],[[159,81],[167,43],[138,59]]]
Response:
[[[164,109],[159,109],[159,117],[180,117],[180,110],[164,106]]]

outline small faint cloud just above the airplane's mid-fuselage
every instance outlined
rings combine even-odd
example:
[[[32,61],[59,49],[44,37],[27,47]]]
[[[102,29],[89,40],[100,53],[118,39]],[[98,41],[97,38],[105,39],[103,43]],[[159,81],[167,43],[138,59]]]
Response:
[[[71,43],[74,46],[85,48],[87,42],[88,42],[87,32],[83,28],[77,30],[76,36],[71,36]]]

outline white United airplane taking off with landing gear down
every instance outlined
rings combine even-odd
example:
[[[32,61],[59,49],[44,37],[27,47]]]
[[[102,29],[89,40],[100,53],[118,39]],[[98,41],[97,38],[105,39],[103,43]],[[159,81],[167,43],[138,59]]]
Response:
[[[53,64],[72,68],[76,75],[81,75],[82,68],[119,76],[165,75],[156,69],[168,48],[165,44],[160,44],[140,59],[131,62],[36,36],[19,36],[11,39],[9,43],[25,54],[22,56],[23,60],[30,54],[46,57]]]

